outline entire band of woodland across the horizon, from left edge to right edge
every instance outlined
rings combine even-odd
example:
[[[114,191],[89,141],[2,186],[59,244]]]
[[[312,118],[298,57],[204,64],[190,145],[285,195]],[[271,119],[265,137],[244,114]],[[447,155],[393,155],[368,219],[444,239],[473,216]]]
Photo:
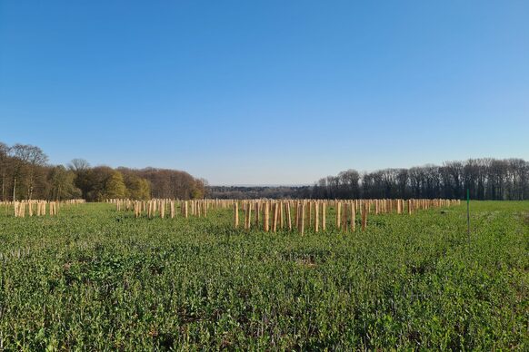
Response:
[[[529,162],[493,158],[372,172],[347,170],[311,186],[208,186],[185,171],[50,165],[39,147],[0,142],[0,200],[168,199],[529,199]]]

